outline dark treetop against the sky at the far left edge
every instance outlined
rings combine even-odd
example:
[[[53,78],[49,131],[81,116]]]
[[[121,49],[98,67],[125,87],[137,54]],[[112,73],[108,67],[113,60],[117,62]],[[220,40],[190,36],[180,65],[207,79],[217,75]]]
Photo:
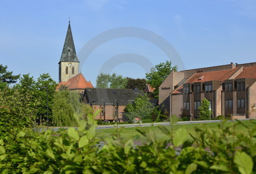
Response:
[[[0,83],[16,83],[20,75],[13,75],[13,71],[7,71],[7,66],[0,65]]]

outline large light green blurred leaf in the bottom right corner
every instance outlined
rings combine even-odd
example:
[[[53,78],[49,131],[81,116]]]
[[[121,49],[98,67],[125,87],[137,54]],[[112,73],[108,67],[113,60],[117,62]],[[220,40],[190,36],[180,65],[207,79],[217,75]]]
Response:
[[[234,155],[234,163],[237,164],[238,171],[242,174],[249,174],[253,171],[253,160],[245,152],[237,152]]]

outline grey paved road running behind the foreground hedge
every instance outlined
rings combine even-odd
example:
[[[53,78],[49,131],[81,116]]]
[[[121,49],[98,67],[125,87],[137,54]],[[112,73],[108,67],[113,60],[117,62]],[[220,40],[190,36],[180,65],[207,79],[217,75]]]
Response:
[[[242,119],[242,120],[249,120],[249,119]],[[222,120],[204,120],[204,121],[179,121],[177,122],[177,125],[183,125],[183,124],[200,124],[200,123],[208,123],[208,122],[221,122]],[[230,120],[230,121],[234,121],[234,120]],[[157,125],[163,125],[163,126],[167,126],[170,125],[170,122],[156,122],[156,123],[143,123],[143,124],[121,124],[118,125],[118,127],[125,127],[125,128],[134,128],[134,127],[138,127],[138,126],[142,126],[142,127],[146,127],[146,126],[157,126]],[[99,125],[97,126],[96,129],[111,129],[114,128],[115,125]],[[49,128],[49,129],[53,129],[55,131],[59,130],[60,128],[65,128],[67,129],[68,127],[59,127],[59,128]],[[42,129],[39,129],[39,131],[42,131]]]

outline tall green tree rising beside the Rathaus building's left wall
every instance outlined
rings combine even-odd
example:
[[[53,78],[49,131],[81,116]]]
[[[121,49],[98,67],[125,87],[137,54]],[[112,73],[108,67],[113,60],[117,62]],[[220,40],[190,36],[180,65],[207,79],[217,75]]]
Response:
[[[155,67],[152,67],[150,73],[146,73],[146,79],[151,87],[155,88],[153,95],[158,98],[159,86],[171,73],[171,71],[177,71],[177,66],[172,66],[171,61],[161,62]]]

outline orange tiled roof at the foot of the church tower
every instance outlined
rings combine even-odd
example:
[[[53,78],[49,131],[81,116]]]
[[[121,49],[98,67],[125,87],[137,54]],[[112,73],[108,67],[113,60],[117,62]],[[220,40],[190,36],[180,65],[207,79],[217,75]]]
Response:
[[[70,90],[93,88],[92,83],[87,82],[82,73],[77,74],[68,80],[68,82],[60,82],[59,87],[62,85],[67,86]],[[57,89],[59,89],[59,87]]]

